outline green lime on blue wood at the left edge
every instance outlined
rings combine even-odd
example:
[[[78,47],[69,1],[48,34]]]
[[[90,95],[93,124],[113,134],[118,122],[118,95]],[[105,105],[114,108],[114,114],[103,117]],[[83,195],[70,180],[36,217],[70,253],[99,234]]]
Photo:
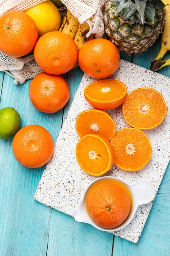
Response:
[[[0,138],[13,137],[20,128],[20,115],[14,108],[0,110]]]

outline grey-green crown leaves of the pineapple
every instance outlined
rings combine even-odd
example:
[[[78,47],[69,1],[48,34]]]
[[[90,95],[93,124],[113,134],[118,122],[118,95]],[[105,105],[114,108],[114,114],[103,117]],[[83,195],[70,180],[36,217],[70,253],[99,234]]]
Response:
[[[148,18],[152,23],[156,20],[156,9],[164,8],[161,0],[114,0],[116,14],[120,13],[123,20],[130,19],[130,23],[145,23]]]

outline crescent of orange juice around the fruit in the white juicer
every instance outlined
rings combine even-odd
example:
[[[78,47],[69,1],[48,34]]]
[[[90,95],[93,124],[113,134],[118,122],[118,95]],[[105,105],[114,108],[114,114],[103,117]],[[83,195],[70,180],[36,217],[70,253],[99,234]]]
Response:
[[[87,201],[88,201],[88,195],[89,195],[89,193],[91,192],[91,189],[92,189],[94,186],[96,186],[96,184],[105,183],[106,181],[107,181],[107,182],[114,183],[114,184],[116,184],[116,185],[119,185],[119,186],[121,186],[122,189],[125,190],[126,194],[128,195],[128,197],[129,197],[129,199],[130,199],[130,211],[129,211],[129,215],[130,215],[130,213],[131,213],[131,211],[132,211],[132,207],[133,207],[133,198],[132,198],[132,195],[131,195],[131,193],[130,193],[130,190],[129,190],[128,187],[125,186],[125,184],[123,184],[122,182],[120,182],[120,181],[118,181],[118,180],[111,180],[111,179],[109,179],[109,178],[106,179],[106,180],[100,180],[100,181],[98,181],[97,183],[95,183],[95,184],[89,189],[89,191],[88,191],[88,193],[87,193],[87,196],[86,196],[86,200],[85,200],[85,207],[86,207],[86,211],[88,212],[88,215],[90,215],[90,214],[89,214],[89,210],[88,210],[88,206],[87,206]]]

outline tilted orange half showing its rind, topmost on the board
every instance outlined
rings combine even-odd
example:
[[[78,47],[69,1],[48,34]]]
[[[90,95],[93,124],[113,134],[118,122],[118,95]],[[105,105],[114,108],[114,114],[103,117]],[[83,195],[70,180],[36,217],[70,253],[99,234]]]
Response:
[[[127,88],[124,83],[114,79],[94,81],[85,87],[87,102],[94,108],[109,110],[119,107],[125,100]]]

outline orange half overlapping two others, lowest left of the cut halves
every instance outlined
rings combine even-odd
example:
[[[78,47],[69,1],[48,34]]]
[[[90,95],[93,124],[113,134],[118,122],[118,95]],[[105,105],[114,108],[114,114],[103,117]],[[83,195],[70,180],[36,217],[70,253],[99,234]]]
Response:
[[[79,140],[76,157],[83,171],[94,176],[108,172],[114,163],[111,143],[97,134],[87,134]]]

